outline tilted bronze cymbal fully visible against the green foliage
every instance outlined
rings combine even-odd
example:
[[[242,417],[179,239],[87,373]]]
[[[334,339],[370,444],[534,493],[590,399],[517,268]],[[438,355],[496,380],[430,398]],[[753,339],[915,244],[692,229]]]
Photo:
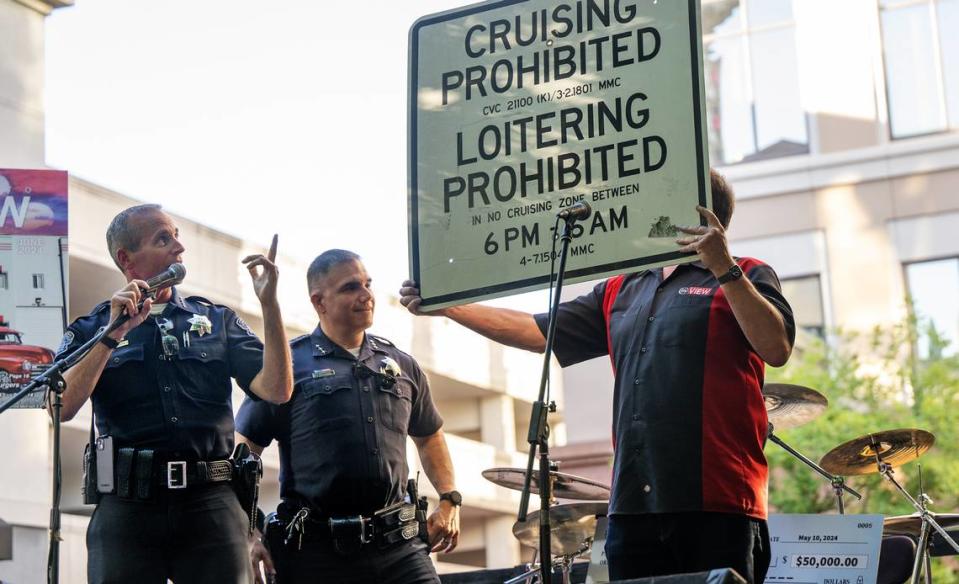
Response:
[[[862,475],[879,472],[876,454],[890,466],[902,466],[929,450],[936,437],[925,430],[902,428],[866,434],[833,448],[819,462],[836,475]]]

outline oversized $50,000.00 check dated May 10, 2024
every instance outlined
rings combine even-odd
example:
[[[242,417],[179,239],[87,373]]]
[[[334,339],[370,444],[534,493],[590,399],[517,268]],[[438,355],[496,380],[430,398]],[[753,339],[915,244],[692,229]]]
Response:
[[[876,584],[882,515],[770,515],[766,583]]]

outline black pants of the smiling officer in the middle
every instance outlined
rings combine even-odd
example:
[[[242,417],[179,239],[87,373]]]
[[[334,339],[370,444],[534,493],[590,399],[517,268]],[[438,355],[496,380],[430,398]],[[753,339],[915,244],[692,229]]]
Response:
[[[285,565],[277,565],[277,584],[439,584],[426,544],[421,540],[384,551],[364,546],[349,556],[333,551],[328,542],[286,548]],[[274,557],[274,559],[276,559]]]

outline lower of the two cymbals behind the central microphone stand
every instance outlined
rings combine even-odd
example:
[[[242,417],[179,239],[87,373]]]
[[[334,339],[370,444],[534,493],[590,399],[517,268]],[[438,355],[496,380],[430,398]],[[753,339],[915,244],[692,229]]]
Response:
[[[596,533],[596,516],[606,515],[607,503],[567,503],[549,508],[550,550],[554,556],[568,556],[582,550],[583,543]],[[533,511],[526,521],[513,524],[513,535],[524,545],[539,547],[539,514]]]

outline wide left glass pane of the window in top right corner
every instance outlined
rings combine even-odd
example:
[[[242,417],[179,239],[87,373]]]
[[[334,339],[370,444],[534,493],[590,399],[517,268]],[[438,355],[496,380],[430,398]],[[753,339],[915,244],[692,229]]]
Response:
[[[882,13],[889,118],[897,138],[945,129],[930,11],[918,4]]]

